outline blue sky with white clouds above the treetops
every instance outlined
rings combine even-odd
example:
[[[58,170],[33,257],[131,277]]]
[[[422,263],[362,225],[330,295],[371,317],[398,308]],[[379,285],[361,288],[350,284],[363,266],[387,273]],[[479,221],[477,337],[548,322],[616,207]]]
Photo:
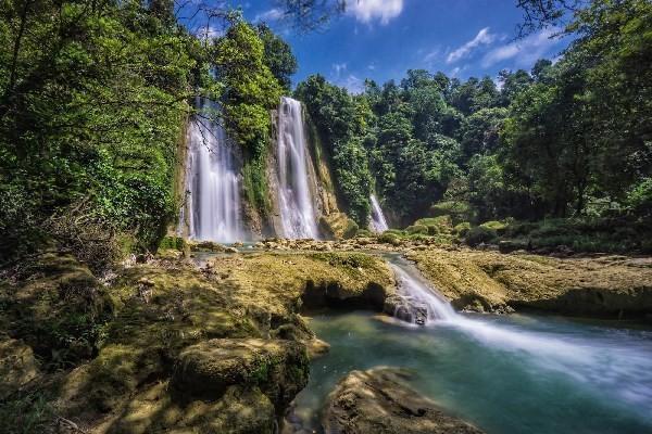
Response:
[[[449,76],[498,76],[554,60],[567,39],[554,29],[516,40],[522,11],[515,0],[351,0],[324,28],[301,35],[283,21],[274,0],[235,2],[249,21],[267,22],[292,47],[299,63],[294,84],[319,73],[360,91],[365,78],[400,81],[408,69]]]

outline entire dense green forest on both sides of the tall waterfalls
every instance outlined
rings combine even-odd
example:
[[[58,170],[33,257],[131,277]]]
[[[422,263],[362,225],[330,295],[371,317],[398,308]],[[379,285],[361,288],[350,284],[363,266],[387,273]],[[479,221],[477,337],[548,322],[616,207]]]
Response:
[[[286,4],[312,20],[304,29],[343,8],[308,3],[313,15]],[[536,15],[536,3],[519,2],[523,31],[559,15]],[[57,242],[101,267],[154,250],[183,200],[177,150],[198,97],[221,102],[214,116],[241,145],[247,200],[267,212],[269,111],[297,69],[269,27],[203,11],[225,30],[198,37],[165,0],[0,11],[3,258]],[[617,226],[616,240],[636,240],[627,248],[649,250],[637,231],[652,214],[652,7],[595,0],[561,33],[574,39],[555,62],[496,81],[411,69],[360,94],[318,75],[299,82],[349,216],[365,227],[375,191],[398,227],[441,214],[473,226],[556,218]]]

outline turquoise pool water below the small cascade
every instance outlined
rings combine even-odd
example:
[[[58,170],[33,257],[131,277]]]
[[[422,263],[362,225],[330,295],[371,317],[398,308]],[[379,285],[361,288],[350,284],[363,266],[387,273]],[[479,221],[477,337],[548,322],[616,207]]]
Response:
[[[428,327],[368,312],[311,319],[330,353],[312,363],[296,416],[317,430],[339,379],[410,368],[412,386],[490,434],[652,433],[652,331],[530,316],[464,316]]]

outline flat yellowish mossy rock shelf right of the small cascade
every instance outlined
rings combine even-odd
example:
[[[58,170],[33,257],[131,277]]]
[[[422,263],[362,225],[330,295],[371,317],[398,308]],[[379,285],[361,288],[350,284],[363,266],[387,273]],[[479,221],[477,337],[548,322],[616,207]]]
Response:
[[[502,310],[509,305],[591,316],[652,312],[648,259],[444,250],[414,252],[410,258],[457,308]]]

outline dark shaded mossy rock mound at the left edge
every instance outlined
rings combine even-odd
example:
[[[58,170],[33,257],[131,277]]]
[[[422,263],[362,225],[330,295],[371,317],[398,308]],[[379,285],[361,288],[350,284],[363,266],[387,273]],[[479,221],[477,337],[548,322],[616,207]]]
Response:
[[[0,288],[9,334],[29,345],[49,369],[92,357],[112,306],[90,269],[72,255],[45,253],[21,272],[25,280]]]

